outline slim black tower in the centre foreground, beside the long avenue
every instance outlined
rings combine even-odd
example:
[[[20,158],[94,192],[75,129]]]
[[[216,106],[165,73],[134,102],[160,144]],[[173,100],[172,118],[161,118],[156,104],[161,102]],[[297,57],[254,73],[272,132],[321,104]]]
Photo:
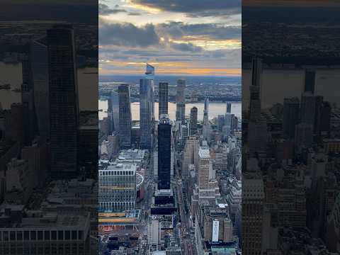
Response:
[[[161,115],[158,124],[158,189],[170,189],[171,124],[168,115]]]

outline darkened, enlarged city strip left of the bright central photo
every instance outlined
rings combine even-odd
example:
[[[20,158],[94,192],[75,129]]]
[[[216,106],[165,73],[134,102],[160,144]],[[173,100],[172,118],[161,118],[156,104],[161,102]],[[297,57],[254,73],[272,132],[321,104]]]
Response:
[[[0,16],[0,254],[98,254],[98,2]]]

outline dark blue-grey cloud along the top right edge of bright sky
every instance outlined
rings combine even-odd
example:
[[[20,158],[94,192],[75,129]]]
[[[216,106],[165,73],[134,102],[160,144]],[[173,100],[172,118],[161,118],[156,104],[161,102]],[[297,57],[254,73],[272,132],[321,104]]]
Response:
[[[189,16],[227,16],[241,13],[241,0],[132,0],[132,3]]]

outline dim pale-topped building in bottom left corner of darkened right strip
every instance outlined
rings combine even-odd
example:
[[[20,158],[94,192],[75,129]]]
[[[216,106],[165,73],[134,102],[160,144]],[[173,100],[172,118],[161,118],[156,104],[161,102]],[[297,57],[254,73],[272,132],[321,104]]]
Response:
[[[264,189],[262,179],[242,179],[242,252],[262,254]]]

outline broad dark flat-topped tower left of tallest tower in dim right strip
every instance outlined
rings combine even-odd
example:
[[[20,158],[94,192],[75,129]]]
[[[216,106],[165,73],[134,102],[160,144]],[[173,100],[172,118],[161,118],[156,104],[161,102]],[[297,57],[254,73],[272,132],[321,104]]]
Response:
[[[293,139],[295,136],[295,125],[300,120],[299,98],[283,99],[283,134]]]

